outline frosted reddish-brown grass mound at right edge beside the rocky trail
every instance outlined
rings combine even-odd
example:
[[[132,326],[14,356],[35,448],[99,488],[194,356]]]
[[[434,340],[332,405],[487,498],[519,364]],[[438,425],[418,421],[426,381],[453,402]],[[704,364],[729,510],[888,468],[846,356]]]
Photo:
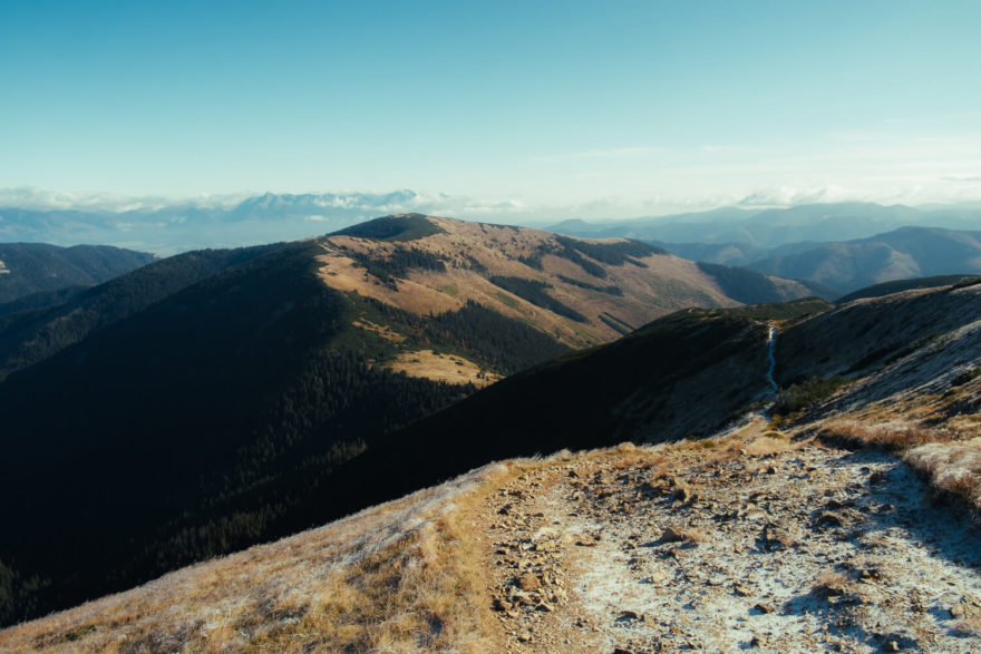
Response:
[[[967,502],[981,516],[981,439],[923,445],[906,452],[904,460],[925,475],[933,488]]]

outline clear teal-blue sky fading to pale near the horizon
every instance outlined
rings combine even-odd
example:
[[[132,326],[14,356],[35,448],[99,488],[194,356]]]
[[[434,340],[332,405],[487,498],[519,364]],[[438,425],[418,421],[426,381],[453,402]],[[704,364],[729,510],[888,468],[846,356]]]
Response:
[[[2,0],[0,189],[981,199],[979,33],[973,0]]]

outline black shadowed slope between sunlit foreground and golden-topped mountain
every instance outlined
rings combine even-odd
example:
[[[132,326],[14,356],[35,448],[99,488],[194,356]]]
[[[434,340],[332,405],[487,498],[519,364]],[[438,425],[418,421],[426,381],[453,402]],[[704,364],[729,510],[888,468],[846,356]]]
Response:
[[[488,460],[711,433],[767,393],[766,321],[798,321],[829,306],[806,300],[686,310],[507,378],[351,461],[334,484],[369,474],[385,481],[344,510],[366,496],[383,501]]]

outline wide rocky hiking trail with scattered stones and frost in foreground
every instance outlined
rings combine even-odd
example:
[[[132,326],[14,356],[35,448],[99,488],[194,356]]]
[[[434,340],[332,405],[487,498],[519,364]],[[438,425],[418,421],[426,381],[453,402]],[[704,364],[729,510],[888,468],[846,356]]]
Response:
[[[895,457],[761,421],[531,461],[479,528],[507,652],[981,648],[967,511]]]

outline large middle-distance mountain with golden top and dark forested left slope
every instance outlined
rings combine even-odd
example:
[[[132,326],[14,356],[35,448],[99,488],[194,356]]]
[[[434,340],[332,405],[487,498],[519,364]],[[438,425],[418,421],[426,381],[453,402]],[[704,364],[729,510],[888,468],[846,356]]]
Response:
[[[0,314],[0,623],[420,488],[348,467],[425,460],[389,437],[698,304],[739,302],[643,244],[406,215]]]

